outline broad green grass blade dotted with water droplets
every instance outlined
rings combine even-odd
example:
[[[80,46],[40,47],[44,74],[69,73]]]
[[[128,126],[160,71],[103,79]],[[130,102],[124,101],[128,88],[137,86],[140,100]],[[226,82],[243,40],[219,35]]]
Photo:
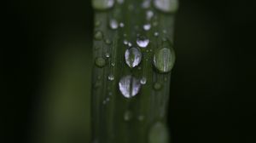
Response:
[[[154,143],[154,136],[157,142],[166,142],[163,132],[166,132],[171,72],[160,72],[153,63],[159,49],[172,49],[174,13],[155,9],[151,0],[125,0],[101,10],[98,8],[104,8],[102,5],[93,4],[96,8],[93,52],[96,61],[92,80],[92,140],[96,143]],[[149,29],[143,27],[147,24]],[[149,39],[146,48],[139,48],[139,37]],[[125,63],[125,51],[131,47],[139,49],[143,56],[133,68]],[[125,98],[120,92],[119,81],[125,76],[146,79],[134,97]]]

